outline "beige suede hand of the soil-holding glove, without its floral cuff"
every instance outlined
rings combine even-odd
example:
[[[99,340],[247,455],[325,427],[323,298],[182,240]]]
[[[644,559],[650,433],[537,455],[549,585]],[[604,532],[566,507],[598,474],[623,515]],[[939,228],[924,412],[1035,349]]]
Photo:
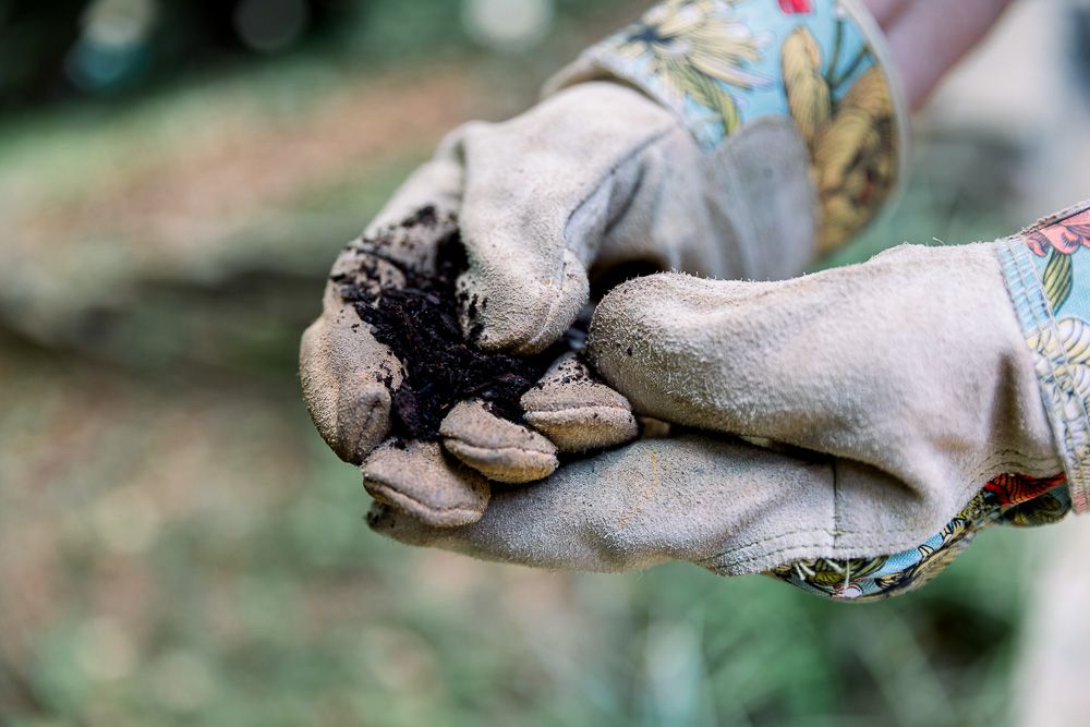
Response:
[[[770,159],[768,144],[792,152]],[[468,124],[334,266],[301,349],[311,414],[341,458],[364,464],[379,498],[433,524],[480,517],[485,478],[540,480],[560,452],[633,438],[628,401],[568,353],[546,361],[521,415],[470,396],[441,412],[437,436],[405,437],[397,396],[412,362],[376,338],[361,305],[433,275],[457,234],[464,270],[452,316],[463,337],[481,351],[541,355],[576,323],[592,280],[637,268],[796,271],[813,255],[813,195],[790,122],[753,123],[706,154],[670,112],[614,83],[579,84],[505,123]],[[422,478],[407,452],[441,467]]]

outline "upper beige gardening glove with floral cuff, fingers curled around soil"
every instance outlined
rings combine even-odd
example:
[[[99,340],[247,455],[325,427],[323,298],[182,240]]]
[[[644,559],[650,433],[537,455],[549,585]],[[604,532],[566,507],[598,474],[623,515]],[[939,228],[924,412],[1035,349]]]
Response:
[[[592,281],[633,269],[800,271],[876,214],[903,168],[903,105],[882,47],[850,0],[669,0],[584,53],[522,117],[456,131],[335,266],[301,354],[319,432],[360,463],[397,424],[391,402],[411,366],[360,325],[352,291],[402,286],[390,260],[429,269],[456,227],[467,256],[458,323],[487,351],[538,354],[576,322]],[[585,364],[558,361],[547,379],[522,401],[538,432],[470,397],[445,422],[443,449],[413,455],[453,453],[493,480],[526,482],[556,468],[557,445],[635,436],[627,400]],[[389,444],[384,456],[400,462],[409,450]],[[429,484],[367,482],[420,517],[438,512]]]

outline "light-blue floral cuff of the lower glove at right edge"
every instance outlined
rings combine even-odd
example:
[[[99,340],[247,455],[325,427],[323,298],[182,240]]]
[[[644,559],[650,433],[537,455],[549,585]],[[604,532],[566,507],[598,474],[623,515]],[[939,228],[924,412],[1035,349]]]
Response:
[[[1001,244],[1007,290],[1033,352],[1071,505],[1090,510],[1090,202]]]

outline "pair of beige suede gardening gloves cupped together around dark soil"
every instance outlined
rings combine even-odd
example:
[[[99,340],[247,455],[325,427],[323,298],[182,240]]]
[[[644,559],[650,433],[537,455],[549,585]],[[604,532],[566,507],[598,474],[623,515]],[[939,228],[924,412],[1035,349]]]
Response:
[[[1009,241],[791,279],[891,196],[905,120],[855,3],[746,15],[754,2],[670,0],[529,112],[456,131],[337,260],[302,384],[362,467],[375,531],[541,568],[685,560],[879,597],[983,525],[1066,512]],[[834,56],[852,38],[867,63]],[[486,351],[538,353],[600,281],[662,272],[594,302],[585,350],[522,398],[524,422],[467,401],[438,441],[388,439],[411,362],[343,284],[404,284],[456,231],[460,325]]]

